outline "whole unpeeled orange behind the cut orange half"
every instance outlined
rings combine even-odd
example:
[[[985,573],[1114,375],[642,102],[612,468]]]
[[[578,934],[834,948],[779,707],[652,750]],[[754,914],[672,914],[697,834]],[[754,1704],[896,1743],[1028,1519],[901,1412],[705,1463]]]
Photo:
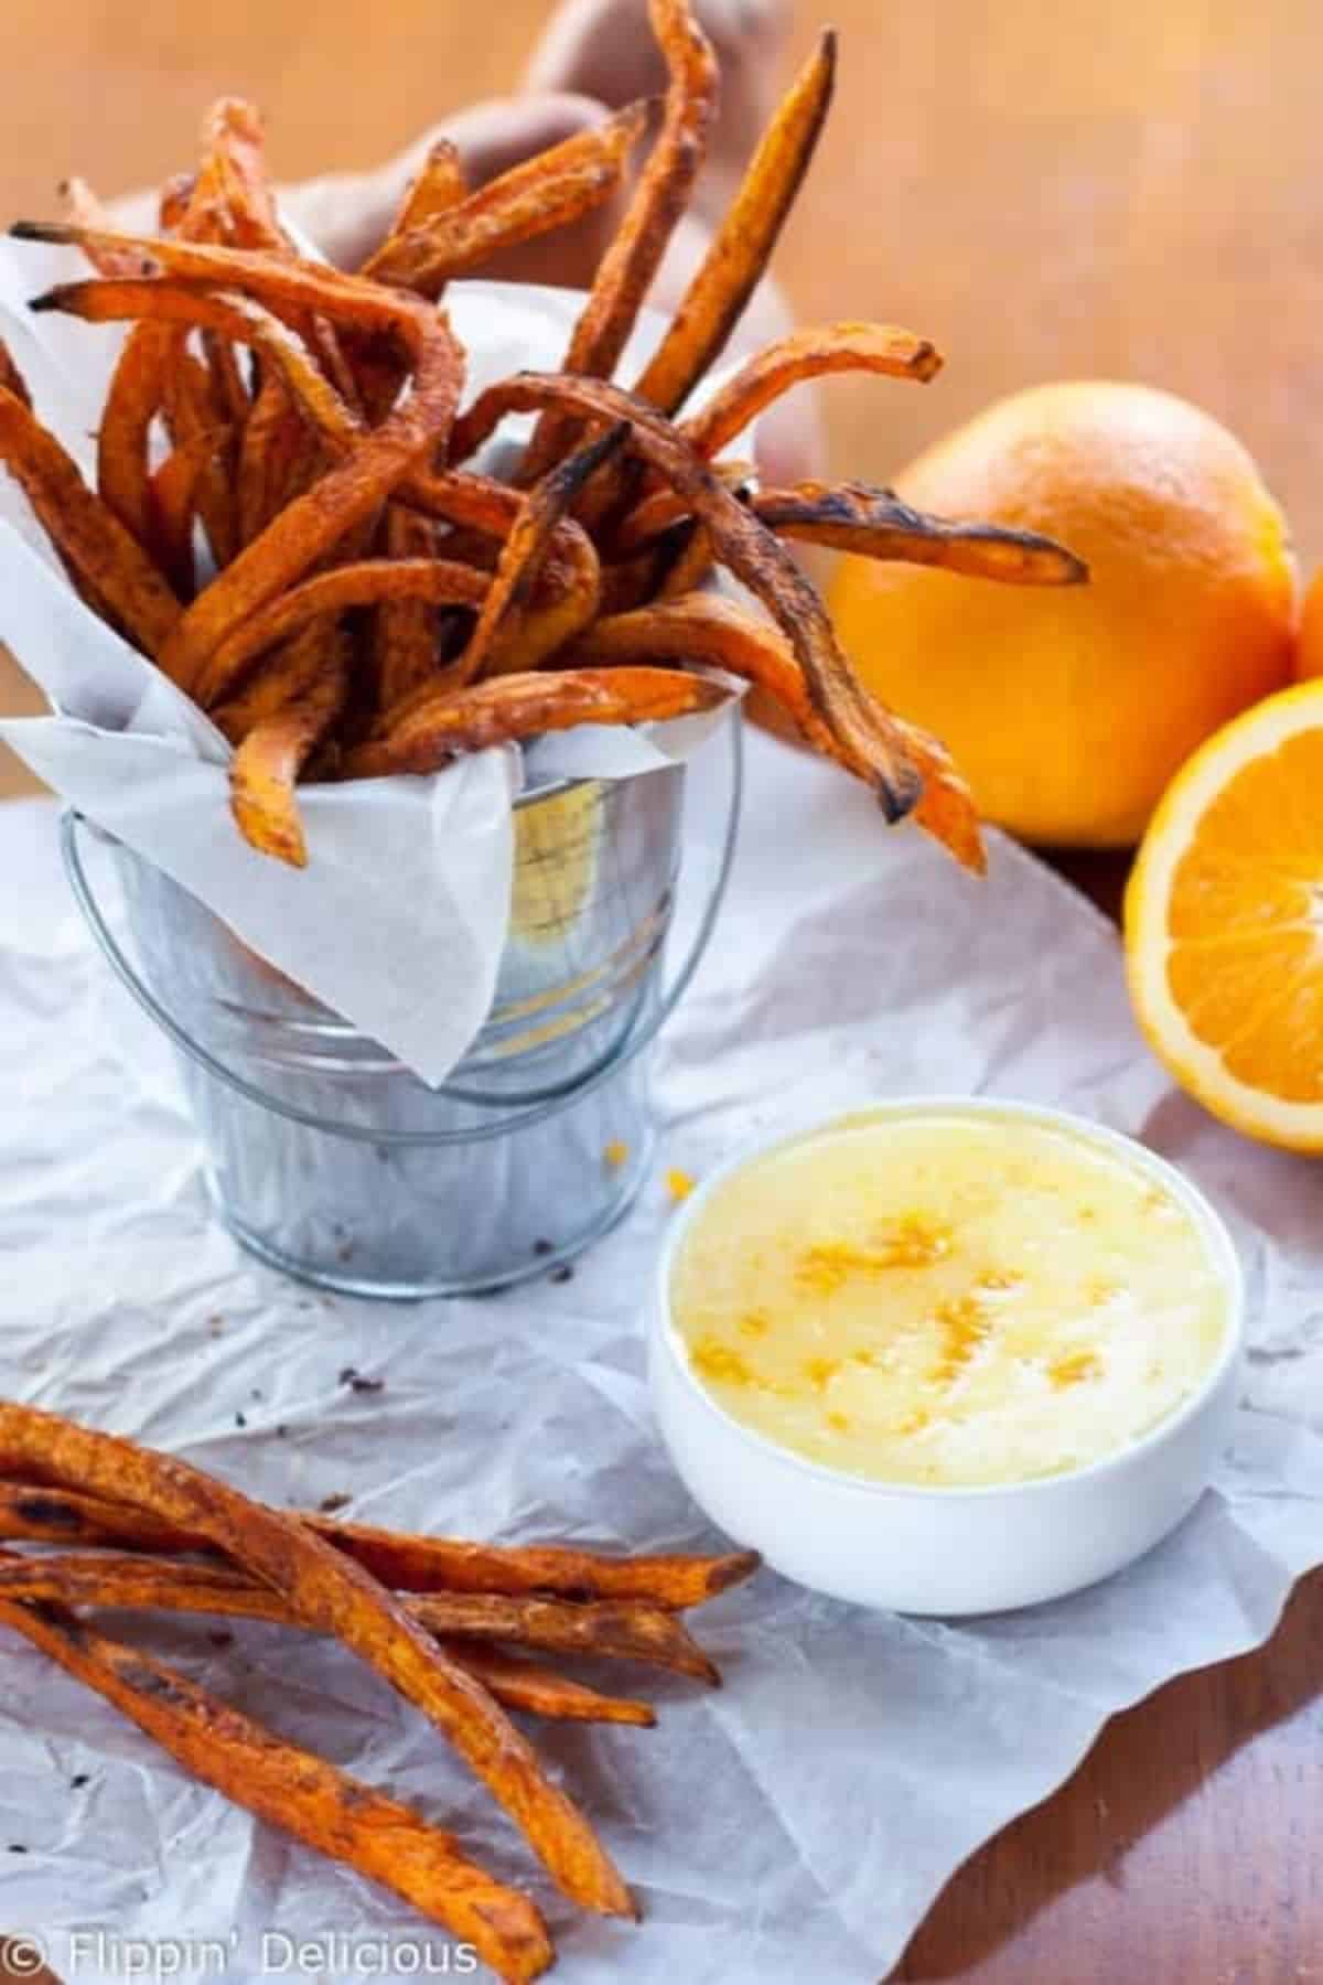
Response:
[[[1291,679],[1281,510],[1234,435],[1170,393],[1031,387],[897,488],[1089,564],[1087,586],[1027,588],[845,558],[833,582],[863,679],[944,738],[984,816],[1025,840],[1135,842],[1196,744]]]

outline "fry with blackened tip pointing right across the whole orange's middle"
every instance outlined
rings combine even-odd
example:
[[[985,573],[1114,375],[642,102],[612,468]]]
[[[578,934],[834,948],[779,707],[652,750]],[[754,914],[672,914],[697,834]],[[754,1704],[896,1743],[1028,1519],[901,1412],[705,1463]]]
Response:
[[[1033,530],[946,522],[869,482],[795,482],[758,490],[748,504],[778,536],[835,552],[942,566],[1012,586],[1079,586],[1089,578],[1083,558]]]

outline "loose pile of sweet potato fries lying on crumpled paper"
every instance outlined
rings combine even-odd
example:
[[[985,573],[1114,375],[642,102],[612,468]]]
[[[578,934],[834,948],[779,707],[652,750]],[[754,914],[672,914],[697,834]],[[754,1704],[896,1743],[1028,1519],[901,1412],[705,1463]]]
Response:
[[[236,1804],[349,1862],[472,1943],[504,1979],[553,1959],[520,1890],[460,1842],[323,1759],[286,1743],[73,1608],[274,1620],[331,1634],[452,1743],[555,1884],[585,1910],[635,1916],[593,1828],[506,1709],[651,1725],[653,1709],[510,1654],[643,1661],[716,1683],[680,1612],[758,1566],[498,1546],[268,1509],[184,1461],[54,1413],[0,1401],[0,1626],[50,1654]]]

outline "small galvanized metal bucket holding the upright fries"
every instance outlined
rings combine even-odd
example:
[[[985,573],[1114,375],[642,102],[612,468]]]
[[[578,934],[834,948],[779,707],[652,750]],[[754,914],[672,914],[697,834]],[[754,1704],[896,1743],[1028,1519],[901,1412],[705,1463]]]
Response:
[[[736,709],[704,752],[722,740],[722,842],[670,977],[684,766],[516,802],[496,996],[438,1090],[101,836],[123,889],[121,943],[65,814],[73,893],[177,1048],[216,1211],[244,1247],[355,1296],[450,1296],[545,1272],[627,1211],[655,1145],[647,1050],[698,965],[730,869]]]

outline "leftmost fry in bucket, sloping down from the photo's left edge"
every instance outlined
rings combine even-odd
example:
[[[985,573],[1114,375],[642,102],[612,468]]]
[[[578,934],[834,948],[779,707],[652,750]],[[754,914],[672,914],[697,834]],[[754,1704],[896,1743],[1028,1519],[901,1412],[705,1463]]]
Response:
[[[119,629],[159,657],[179,625],[179,599],[137,538],[95,496],[56,437],[0,387],[0,464],[20,484],[52,544]]]

